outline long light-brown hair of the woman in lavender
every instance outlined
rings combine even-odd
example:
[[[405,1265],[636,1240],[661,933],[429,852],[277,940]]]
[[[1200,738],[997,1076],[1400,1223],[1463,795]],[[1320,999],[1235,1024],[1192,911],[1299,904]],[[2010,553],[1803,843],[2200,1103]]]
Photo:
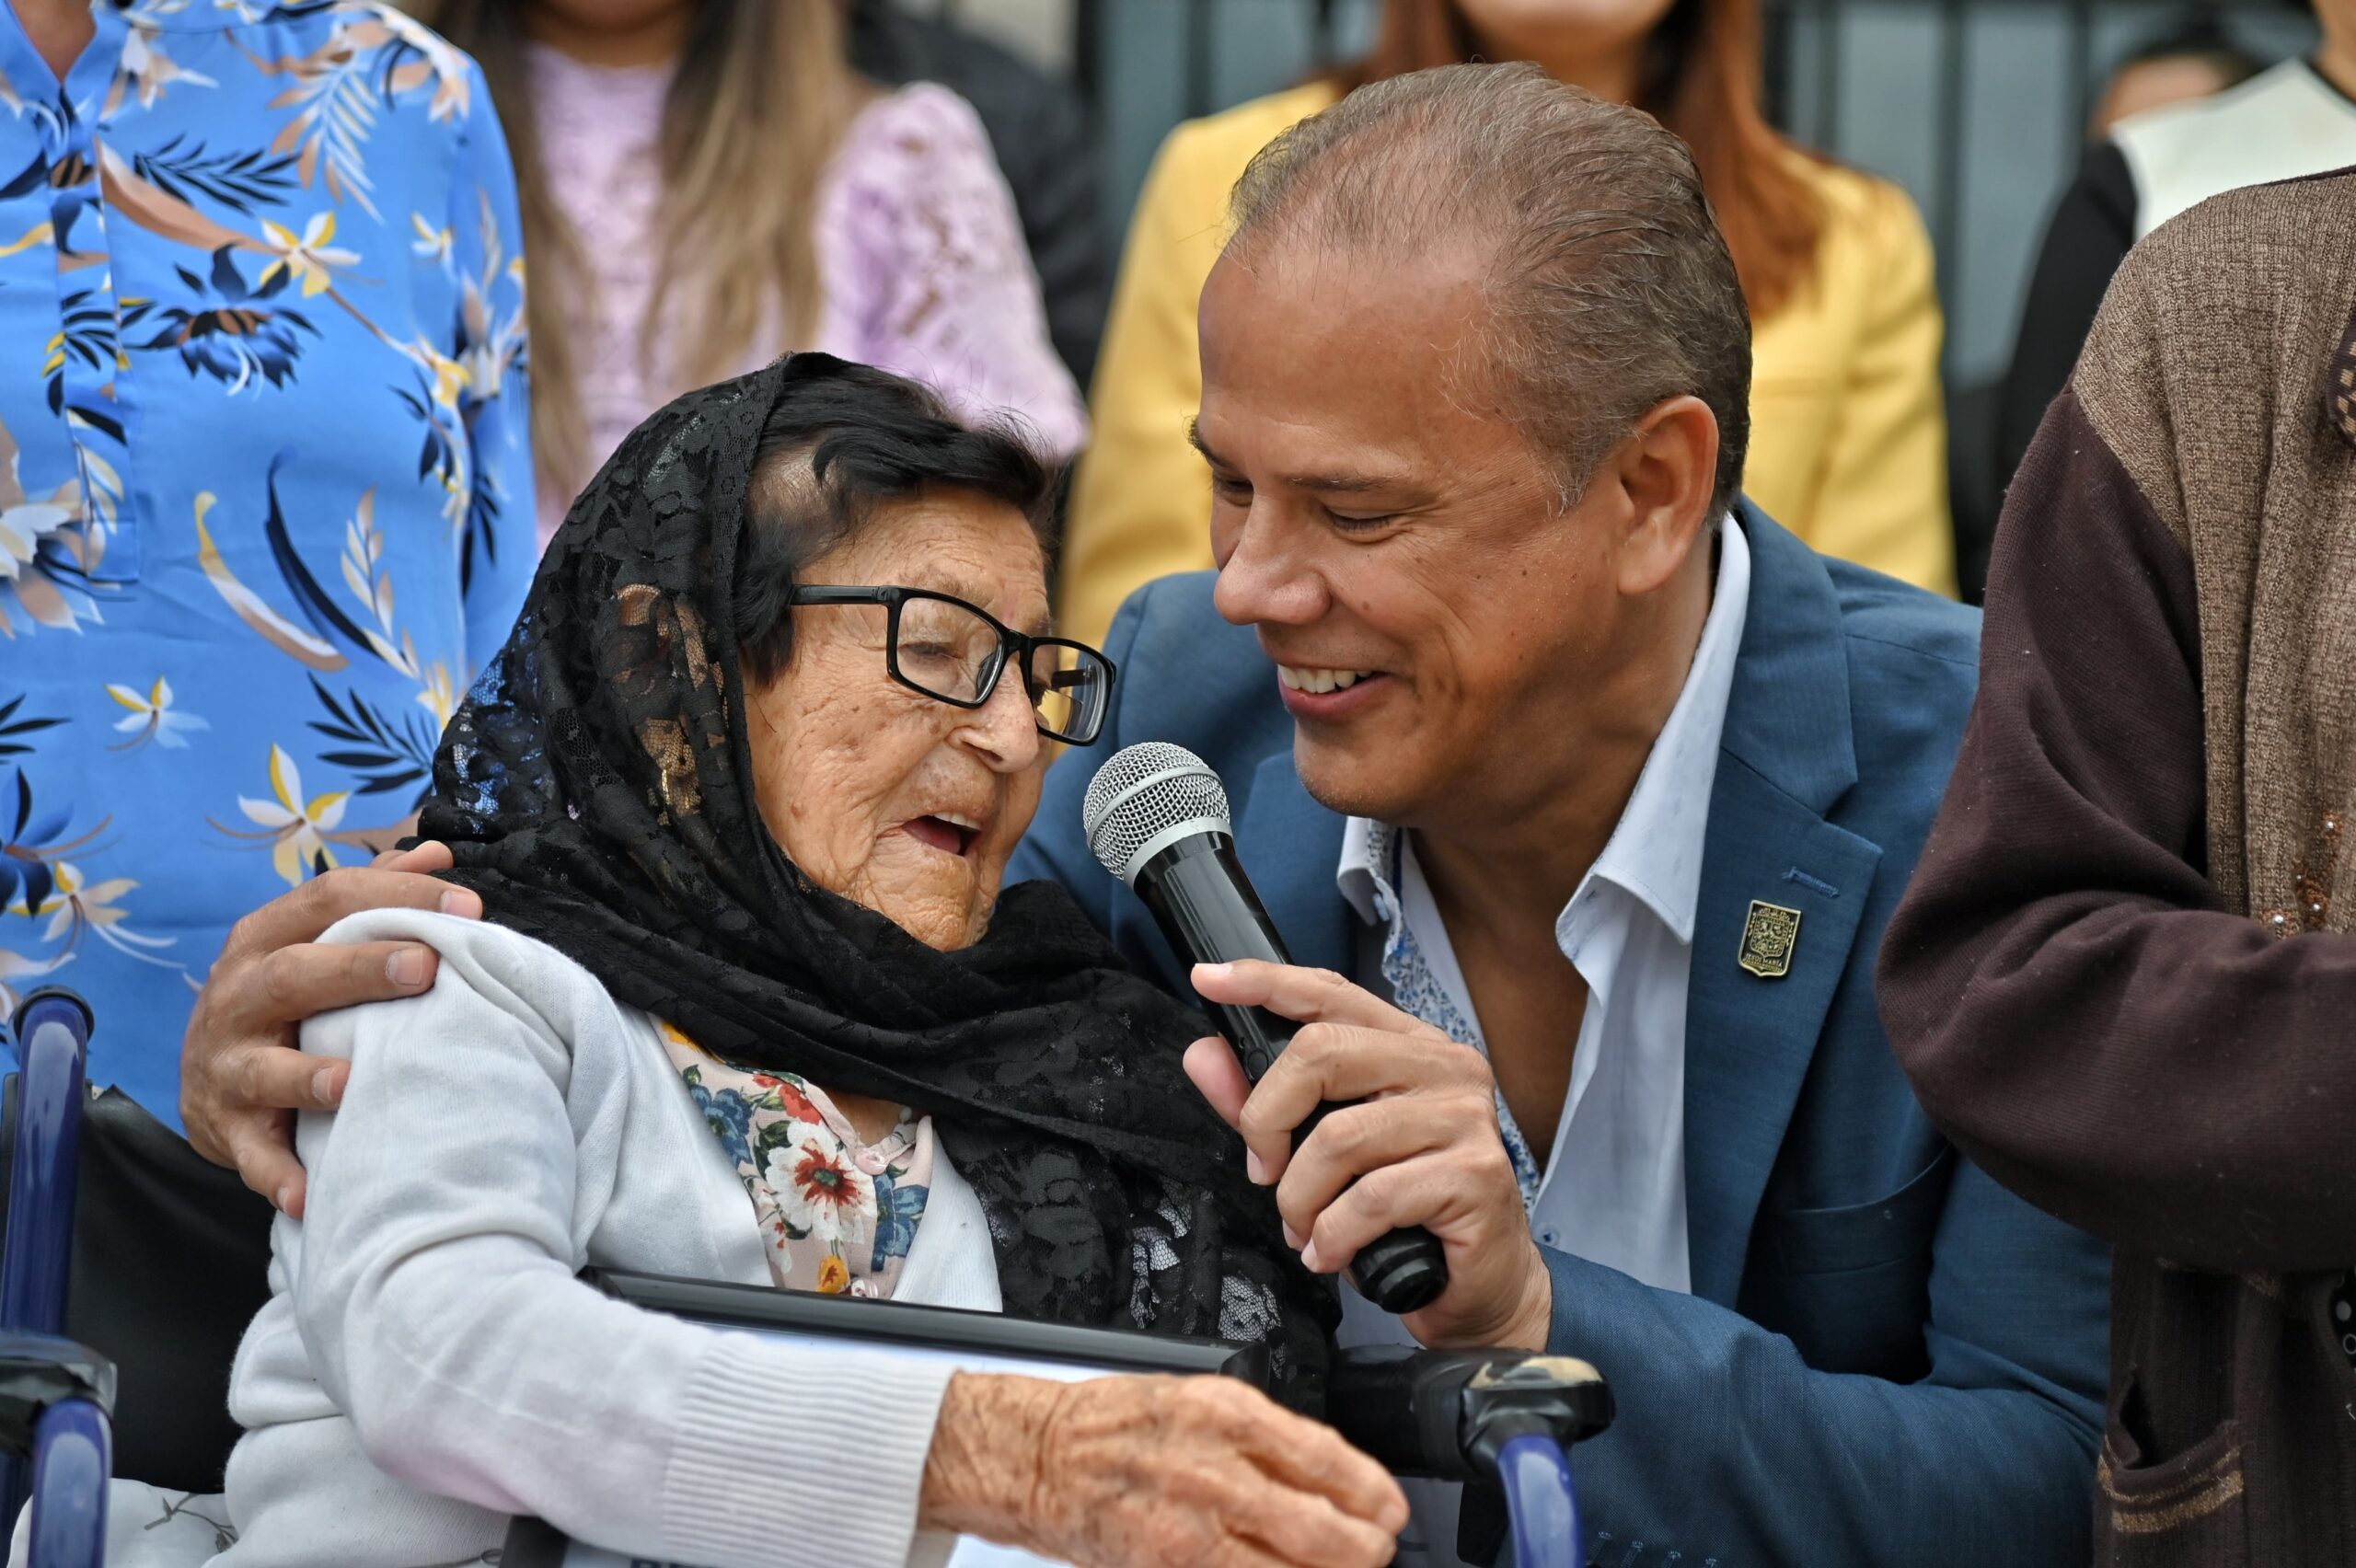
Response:
[[[570,497],[603,459],[589,450],[580,348],[565,323],[565,301],[591,280],[584,235],[565,221],[540,162],[525,7],[410,0],[408,9],[474,54],[499,108],[532,268],[532,445],[540,483]],[[674,287],[688,311],[679,346],[650,363],[700,386],[730,374],[770,320],[787,332],[777,351],[810,341],[822,304],[818,186],[865,92],[843,52],[839,0],[700,0],[662,108],[664,254],[638,351],[655,353]]]

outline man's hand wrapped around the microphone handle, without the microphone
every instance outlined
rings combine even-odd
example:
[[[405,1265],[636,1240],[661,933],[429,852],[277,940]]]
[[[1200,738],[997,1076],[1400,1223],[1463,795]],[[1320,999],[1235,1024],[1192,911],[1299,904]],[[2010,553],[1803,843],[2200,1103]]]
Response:
[[[1376,1236],[1421,1224],[1447,1250],[1449,1288],[1399,1318],[1407,1330],[1440,1349],[1543,1351],[1555,1285],[1529,1238],[1489,1062],[1329,970],[1197,963],[1194,989],[1301,1024],[1258,1085],[1223,1038],[1185,1052],[1194,1088],[1244,1135],[1251,1180],[1275,1182],[1301,1262],[1333,1274]],[[1293,1149],[1322,1099],[1364,1104]]]

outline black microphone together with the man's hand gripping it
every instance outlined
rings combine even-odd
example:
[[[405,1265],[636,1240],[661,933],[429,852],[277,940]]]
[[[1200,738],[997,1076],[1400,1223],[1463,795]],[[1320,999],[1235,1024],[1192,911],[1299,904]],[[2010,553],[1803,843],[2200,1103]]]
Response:
[[[1423,1344],[1546,1349],[1529,1238],[1477,1050],[1341,975],[1296,968],[1235,855],[1227,791],[1183,746],[1124,746],[1088,784],[1088,848],[1152,911],[1225,1038],[1187,1076],[1244,1135],[1289,1241]]]

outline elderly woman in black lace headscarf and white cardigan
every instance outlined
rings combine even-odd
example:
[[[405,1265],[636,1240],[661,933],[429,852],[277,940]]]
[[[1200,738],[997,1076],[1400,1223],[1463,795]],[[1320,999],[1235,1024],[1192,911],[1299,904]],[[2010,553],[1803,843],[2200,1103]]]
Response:
[[[643,424],[452,723],[424,829],[485,921],[379,911],[431,991],[313,1019],[302,1220],[238,1356],[221,1568],[634,1559],[1381,1563],[1397,1486],[1227,1380],[1048,1384],[638,1311],[622,1267],[1265,1340],[1331,1311],[1178,1057],[1199,1024],[1051,885],[1053,476],[909,381],[780,360]]]

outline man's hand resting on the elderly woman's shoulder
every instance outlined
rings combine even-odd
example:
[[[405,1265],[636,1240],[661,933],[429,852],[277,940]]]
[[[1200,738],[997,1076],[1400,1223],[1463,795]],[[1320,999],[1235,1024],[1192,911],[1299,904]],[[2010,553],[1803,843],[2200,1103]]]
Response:
[[[351,1062],[297,1050],[313,1012],[415,996],[434,984],[438,958],[417,942],[320,946],[318,935],[363,909],[438,909],[481,918],[483,899],[434,881],[450,850],[422,843],[386,852],[370,869],[327,871],[283,892],[229,930],[212,963],[188,1038],[179,1050],[179,1116],[188,1142],[214,1165],[236,1165],[245,1184],[302,1217],[304,1175],[294,1158],[294,1111],[344,1099]]]

